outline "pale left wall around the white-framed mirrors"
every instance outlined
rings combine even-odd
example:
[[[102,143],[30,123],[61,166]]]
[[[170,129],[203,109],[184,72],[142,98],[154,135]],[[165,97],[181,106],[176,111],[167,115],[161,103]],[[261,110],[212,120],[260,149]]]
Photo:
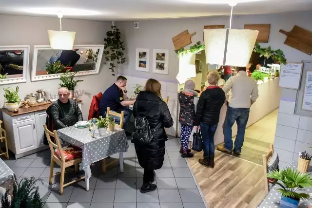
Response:
[[[110,30],[111,22],[90,21],[80,19],[62,19],[62,29],[75,31],[75,44],[103,44],[106,31]],[[29,72],[27,83],[1,85],[0,105],[4,105],[3,88],[20,87],[20,97],[29,93],[36,93],[36,90],[43,89],[50,93],[57,94],[59,79],[30,82],[32,69],[32,58],[34,45],[49,45],[47,30],[59,30],[59,19],[28,16],[0,15],[0,45],[30,45]],[[102,59],[103,60],[103,59]],[[76,95],[82,100],[83,118],[88,118],[89,107],[93,95],[103,92],[111,85],[115,77],[111,76],[107,66],[101,65],[98,75],[78,76],[83,79],[76,87]]]

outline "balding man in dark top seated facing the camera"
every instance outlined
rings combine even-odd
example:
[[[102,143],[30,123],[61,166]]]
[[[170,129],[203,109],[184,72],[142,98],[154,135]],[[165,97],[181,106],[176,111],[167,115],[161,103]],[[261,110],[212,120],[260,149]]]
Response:
[[[59,99],[51,105],[51,116],[56,130],[73,126],[82,121],[82,113],[76,100],[68,99],[69,90],[66,87],[59,88]]]

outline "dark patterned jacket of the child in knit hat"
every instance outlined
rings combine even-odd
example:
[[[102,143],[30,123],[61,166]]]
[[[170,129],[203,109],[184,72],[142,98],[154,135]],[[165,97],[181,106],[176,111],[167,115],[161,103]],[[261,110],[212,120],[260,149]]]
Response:
[[[180,92],[179,103],[180,113],[179,122],[183,125],[193,126],[195,119],[194,96]]]

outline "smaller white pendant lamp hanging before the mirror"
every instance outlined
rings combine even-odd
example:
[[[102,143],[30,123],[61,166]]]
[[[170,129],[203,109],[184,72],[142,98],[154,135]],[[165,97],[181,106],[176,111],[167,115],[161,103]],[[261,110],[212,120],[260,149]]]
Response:
[[[48,30],[51,48],[58,50],[72,50],[74,46],[76,32],[62,31],[61,18],[63,17],[63,15],[59,13],[58,17],[60,31]]]

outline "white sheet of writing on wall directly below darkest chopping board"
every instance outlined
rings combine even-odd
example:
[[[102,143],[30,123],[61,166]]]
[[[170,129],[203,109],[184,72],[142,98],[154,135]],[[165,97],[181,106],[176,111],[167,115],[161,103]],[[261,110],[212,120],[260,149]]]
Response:
[[[279,87],[299,89],[303,63],[282,64],[280,69]]]

